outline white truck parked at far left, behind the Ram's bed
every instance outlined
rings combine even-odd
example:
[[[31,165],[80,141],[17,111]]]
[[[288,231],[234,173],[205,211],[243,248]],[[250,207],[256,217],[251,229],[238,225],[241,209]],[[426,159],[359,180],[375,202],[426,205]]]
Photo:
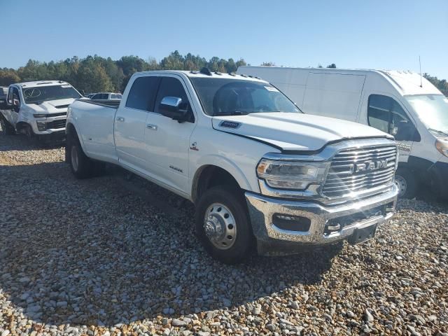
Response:
[[[49,142],[65,137],[66,111],[83,97],[62,80],[15,83],[9,86],[6,102],[0,104],[1,129]]]

